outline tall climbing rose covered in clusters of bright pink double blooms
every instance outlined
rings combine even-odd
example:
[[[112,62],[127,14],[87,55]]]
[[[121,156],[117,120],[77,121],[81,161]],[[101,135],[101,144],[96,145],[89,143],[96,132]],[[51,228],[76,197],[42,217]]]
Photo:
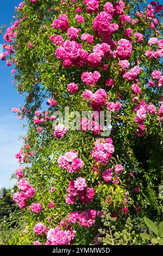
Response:
[[[143,216],[161,220],[162,9],[136,0],[25,0],[15,8],[1,59],[14,65],[12,82],[26,96],[12,112],[28,131],[15,154],[13,195],[26,229],[12,244],[99,243],[103,205],[118,223],[137,220],[135,230]],[[54,111],[65,107],[85,129],[53,129]],[[101,136],[95,115],[90,131],[83,111],[110,111],[110,136]]]

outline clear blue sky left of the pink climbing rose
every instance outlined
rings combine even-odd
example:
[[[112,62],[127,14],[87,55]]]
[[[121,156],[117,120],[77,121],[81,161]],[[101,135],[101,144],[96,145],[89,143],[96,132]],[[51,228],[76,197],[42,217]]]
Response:
[[[10,26],[14,7],[20,2],[20,0],[1,1],[0,25]],[[0,43],[4,43],[2,35],[0,35]],[[18,167],[14,157],[22,145],[22,142],[18,141],[18,136],[25,134],[21,129],[23,121],[18,119],[17,114],[11,112],[12,107],[18,107],[23,103],[22,97],[11,83],[11,69],[5,65],[5,61],[0,60],[0,186],[7,188],[12,187],[16,182],[10,180],[10,176]]]

